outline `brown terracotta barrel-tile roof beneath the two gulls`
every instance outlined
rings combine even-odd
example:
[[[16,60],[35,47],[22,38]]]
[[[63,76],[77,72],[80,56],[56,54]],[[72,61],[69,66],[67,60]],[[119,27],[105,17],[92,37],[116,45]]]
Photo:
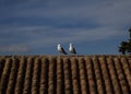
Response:
[[[129,94],[131,56],[0,56],[1,94]]]

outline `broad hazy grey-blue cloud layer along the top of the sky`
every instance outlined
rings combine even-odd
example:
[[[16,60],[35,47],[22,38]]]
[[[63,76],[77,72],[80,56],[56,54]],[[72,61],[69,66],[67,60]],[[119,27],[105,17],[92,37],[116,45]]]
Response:
[[[69,3],[70,2],[70,3]],[[8,20],[14,19],[12,23],[47,24],[75,24],[75,23],[92,23],[98,26],[122,27],[131,22],[130,0],[110,0],[110,1],[26,1],[13,5],[12,13],[8,14]],[[10,16],[9,16],[10,15]],[[5,16],[3,16],[4,20]],[[7,19],[7,17],[5,17]],[[16,19],[16,21],[15,21]],[[40,20],[39,20],[40,19]],[[45,21],[47,20],[47,21]],[[31,22],[31,23],[29,23]],[[45,23],[44,23],[45,22]],[[12,24],[11,23],[11,24]],[[35,24],[34,23],[34,24]],[[41,25],[40,24],[40,25]]]

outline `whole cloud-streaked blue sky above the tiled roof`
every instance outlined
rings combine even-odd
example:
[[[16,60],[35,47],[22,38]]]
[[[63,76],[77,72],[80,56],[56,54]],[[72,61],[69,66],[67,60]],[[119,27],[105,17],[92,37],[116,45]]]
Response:
[[[131,0],[0,0],[0,55],[118,55],[131,27]]]

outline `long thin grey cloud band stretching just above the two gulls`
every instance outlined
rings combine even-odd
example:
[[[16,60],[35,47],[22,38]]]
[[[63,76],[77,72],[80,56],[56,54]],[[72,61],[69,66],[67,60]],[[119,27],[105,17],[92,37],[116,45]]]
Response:
[[[12,31],[12,32],[7,32]],[[121,36],[122,32],[116,28],[97,27],[97,28],[83,28],[83,27],[49,27],[49,26],[20,26],[3,30],[4,38],[0,39],[1,43],[29,44],[34,47],[49,46],[56,43],[69,42],[88,42],[97,39],[106,39],[114,36]],[[3,34],[2,34],[3,35]],[[8,37],[7,37],[8,36]],[[13,44],[14,44],[13,43]]]

